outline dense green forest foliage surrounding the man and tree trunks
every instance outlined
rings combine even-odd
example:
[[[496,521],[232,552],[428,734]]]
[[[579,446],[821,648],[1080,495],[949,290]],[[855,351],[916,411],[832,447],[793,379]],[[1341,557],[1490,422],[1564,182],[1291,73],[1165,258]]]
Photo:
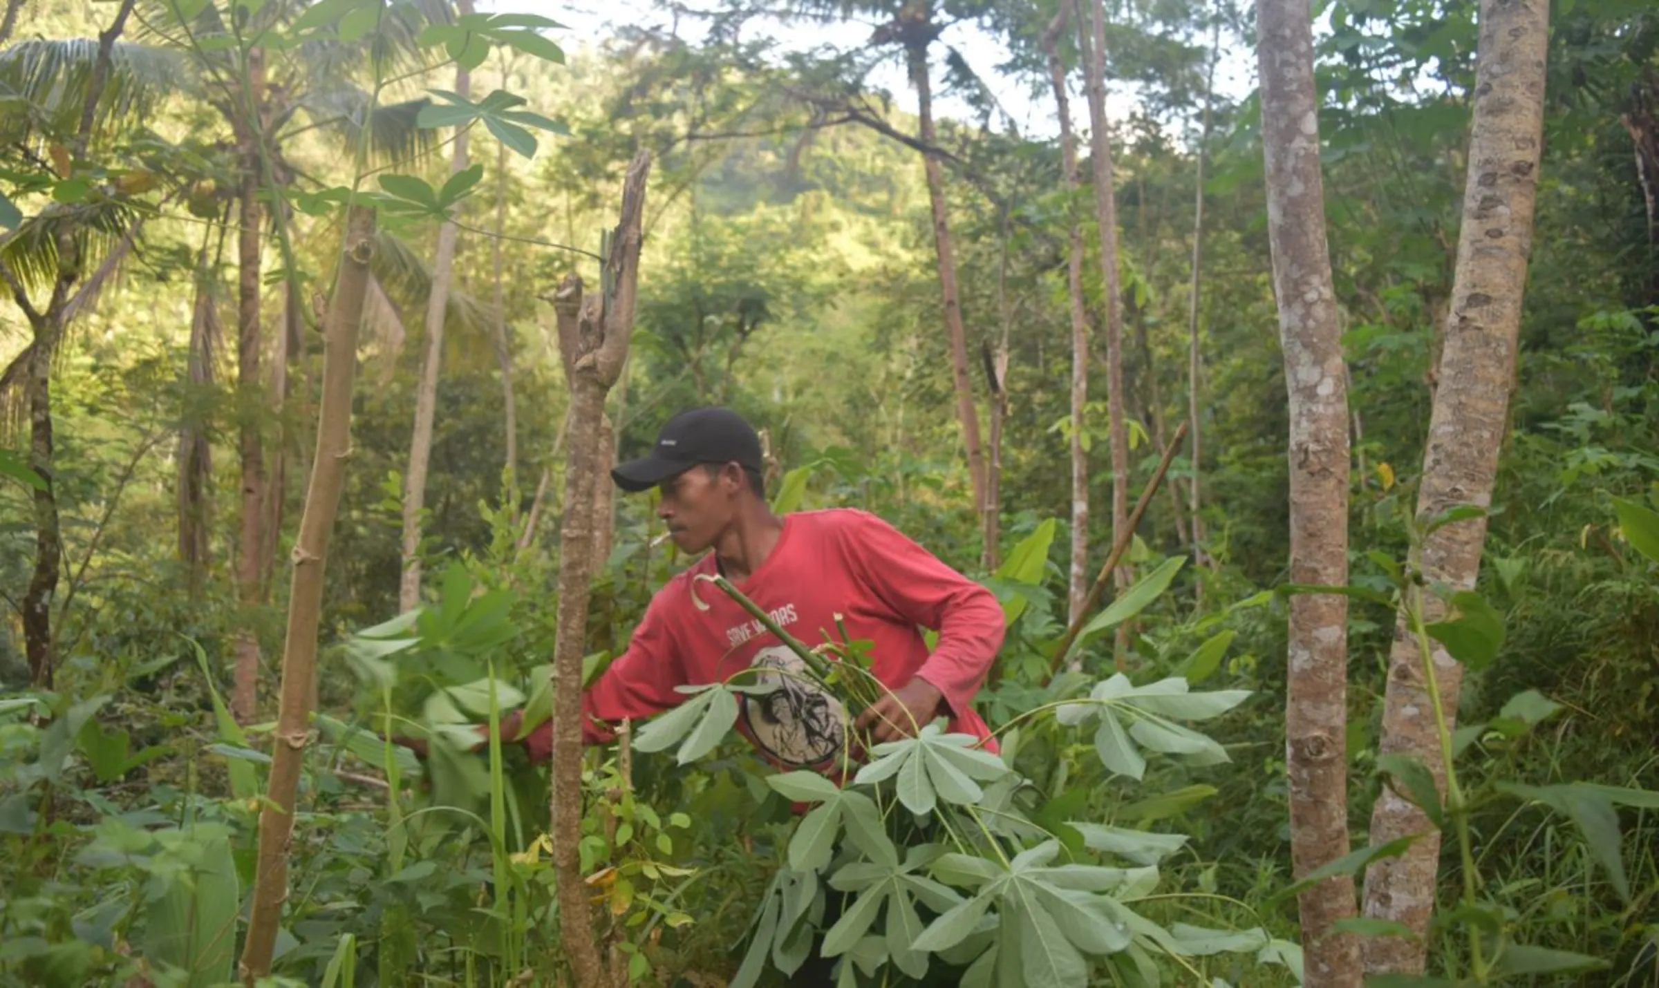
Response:
[[[1302,980],[1284,607],[1306,588],[1286,574],[1261,109],[1204,85],[1211,46],[1251,38],[1244,12],[1113,5],[1108,75],[1135,98],[1112,133],[1130,499],[1188,419],[1194,385],[1203,453],[1175,456],[1128,554],[1133,588],[1090,615],[1078,670],[1050,676],[1072,499],[1065,249],[1073,199],[1090,192],[1068,197],[1058,144],[999,114],[974,75],[990,66],[934,51],[941,88],[984,113],[941,121],[936,153],[982,398],[980,363],[1007,348],[1000,542],[987,554],[921,157],[896,139],[914,121],[866,90],[879,43],[826,56],[750,41],[740,28],[766,8],[742,5],[695,40],[622,28],[601,41],[425,0],[144,0],[114,41],[91,151],[71,172],[98,48],[88,38],[111,7],[35,0],[0,50],[0,260],[38,300],[75,255],[88,288],[50,366],[63,562],[46,680],[32,676],[23,623],[41,524],[25,395],[38,330],[0,303],[0,981],[236,978],[275,743],[277,564],[297,539],[320,300],[353,184],[380,196],[382,229],[328,550],[319,743],[270,983],[562,976],[546,768],[516,744],[469,753],[458,739],[509,710],[526,726],[551,710],[556,532],[587,507],[559,496],[567,393],[551,302],[571,270],[599,283],[599,230],[640,149],[657,172],[634,353],[609,406],[615,451],[644,449],[684,406],[737,408],[766,429],[776,509],[884,516],[989,585],[1009,635],[979,695],[1000,754],[931,726],[876,749],[844,789],[778,776],[728,734],[733,691],[757,688],[743,681],[634,726],[630,744],[589,751],[582,870],[609,907],[601,935],[614,957],[639,983],[781,980],[834,898],[825,953],[846,958],[843,985],[941,970],[966,985]],[[1050,5],[956,7],[951,17],[1007,45],[1000,78],[1047,85]],[[1477,5],[1324,10],[1326,212],[1355,441],[1349,817],[1360,849],[1332,867],[1357,874],[1389,854],[1367,847],[1365,829],[1392,777],[1448,832],[1432,975],[1468,976],[1472,940],[1490,938],[1510,948],[1493,980],[1659,983],[1659,220],[1644,186],[1659,181],[1659,8],[1558,0],[1553,15],[1536,239],[1485,565],[1458,617],[1422,628],[1470,670],[1448,738],[1470,797],[1455,821],[1422,766],[1377,756],[1377,731],[1395,612],[1423,592],[1405,560],[1428,524],[1412,517],[1415,472],[1465,194]],[[267,33],[251,40],[249,23]],[[254,48],[270,73],[264,109],[280,119],[249,157],[236,73]],[[476,103],[451,91],[456,61],[469,63]],[[476,134],[476,162],[451,176],[458,124]],[[254,181],[265,366],[239,380],[251,161],[269,169]],[[461,232],[426,579],[423,605],[400,615],[401,491],[443,216]],[[1085,265],[1095,322],[1098,270]],[[1103,506],[1103,386],[1085,418]],[[254,593],[239,575],[249,434],[272,484]],[[650,496],[617,499],[587,675],[685,567],[660,534]],[[1097,511],[1095,565],[1112,535]],[[1118,627],[1130,628],[1121,653]],[[232,666],[246,637],[264,658],[257,708],[239,723]],[[854,645],[839,642],[856,665]],[[426,758],[390,741],[410,736],[431,741]],[[1392,933],[1367,923],[1352,930]]]

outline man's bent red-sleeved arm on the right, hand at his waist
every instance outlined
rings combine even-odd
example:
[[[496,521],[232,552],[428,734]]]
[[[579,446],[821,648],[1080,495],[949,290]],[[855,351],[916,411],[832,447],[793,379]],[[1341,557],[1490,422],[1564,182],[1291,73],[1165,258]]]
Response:
[[[1002,647],[1002,605],[990,590],[956,572],[886,521],[863,511],[854,517],[843,530],[841,552],[848,569],[906,620],[939,632],[939,643],[916,678],[937,690],[939,703],[947,711],[969,710]],[[916,701],[926,700],[922,686],[902,683],[896,693],[902,695],[911,713],[927,713],[914,710]],[[906,734],[911,733],[909,724],[904,728]],[[876,739],[886,739],[886,733],[878,728]]]

